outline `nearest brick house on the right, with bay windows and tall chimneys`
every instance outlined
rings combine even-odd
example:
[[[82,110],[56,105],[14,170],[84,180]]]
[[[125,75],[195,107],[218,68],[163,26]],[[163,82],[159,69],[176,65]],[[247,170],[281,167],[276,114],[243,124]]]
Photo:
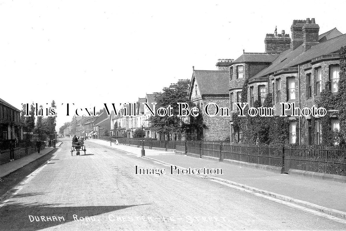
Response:
[[[248,75],[248,99],[250,105],[254,101],[264,101],[268,92],[273,94],[274,113],[281,113],[282,102],[295,103],[296,107],[311,108],[327,81],[331,81],[331,91],[338,91],[339,54],[338,50],[346,45],[346,34],[336,28],[319,35],[319,26],[315,19],[293,20],[291,36],[284,34],[267,34],[265,38],[266,53],[275,54],[275,58],[265,68],[258,68]],[[290,46],[288,43],[290,41]],[[275,43],[271,44],[271,43]],[[265,54],[265,53],[264,53]],[[234,63],[237,62],[237,59]],[[234,68],[234,65],[233,65]],[[238,69],[239,70],[239,69]],[[246,67],[243,69],[246,73]],[[233,76],[237,72],[233,70]],[[232,74],[230,74],[232,76]],[[230,78],[230,93],[235,93],[240,83]],[[234,100],[233,100],[234,101]],[[231,100],[232,102],[232,100]],[[232,104],[232,103],[231,103]],[[290,117],[290,143],[320,144],[320,125],[316,120],[312,126],[310,117]],[[300,123],[299,120],[302,120]],[[338,118],[331,118],[330,129],[339,129]],[[233,132],[234,138],[239,134]],[[296,139],[296,137],[298,137]],[[236,139],[235,139],[236,140]]]

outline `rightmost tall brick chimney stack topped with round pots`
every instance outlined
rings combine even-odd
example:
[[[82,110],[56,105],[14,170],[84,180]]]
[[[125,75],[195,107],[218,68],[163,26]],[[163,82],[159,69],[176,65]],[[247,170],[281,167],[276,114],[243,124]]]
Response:
[[[318,44],[318,32],[320,27],[318,24],[315,24],[315,18],[312,18],[311,21],[309,18],[306,19],[307,23],[304,24],[302,28],[303,32],[303,52],[311,48],[311,46]],[[309,22],[309,23],[308,23]],[[312,23],[313,22],[313,23]]]

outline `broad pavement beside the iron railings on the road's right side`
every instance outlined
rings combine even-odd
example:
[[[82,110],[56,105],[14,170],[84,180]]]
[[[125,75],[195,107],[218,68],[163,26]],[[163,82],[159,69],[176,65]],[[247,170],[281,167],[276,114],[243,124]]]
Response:
[[[109,142],[97,141],[109,145]],[[118,147],[119,146],[119,147]],[[118,145],[115,148],[126,150],[138,156],[140,149],[133,146]],[[147,154],[148,152],[148,154]],[[154,153],[154,155],[152,154]],[[166,155],[163,155],[166,154]],[[171,155],[169,155],[171,154]],[[214,160],[195,158],[184,155],[172,155],[165,151],[146,149],[146,156],[163,164],[176,165],[183,168],[220,168],[222,175],[208,175],[214,179],[251,189],[265,195],[271,195],[281,200],[292,201],[316,210],[326,210],[326,213],[346,215],[346,184],[342,182],[316,179],[297,175],[277,174],[252,167],[244,167]],[[278,194],[278,195],[277,195]],[[307,204],[306,202],[312,203]],[[331,210],[337,211],[331,211]]]

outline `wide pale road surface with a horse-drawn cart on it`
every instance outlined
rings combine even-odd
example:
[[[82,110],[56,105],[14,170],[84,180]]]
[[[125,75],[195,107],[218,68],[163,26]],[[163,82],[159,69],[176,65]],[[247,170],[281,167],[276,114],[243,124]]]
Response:
[[[92,141],[85,145],[85,156],[71,156],[71,141],[64,141],[48,163],[23,178],[0,202],[0,230],[346,229],[346,220],[198,176],[136,175],[136,165],[169,166]]]

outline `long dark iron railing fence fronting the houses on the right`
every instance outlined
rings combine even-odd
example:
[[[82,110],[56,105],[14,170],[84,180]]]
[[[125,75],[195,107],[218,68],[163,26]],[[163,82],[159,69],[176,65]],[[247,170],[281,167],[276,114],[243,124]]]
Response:
[[[142,140],[118,139],[119,143],[142,146]],[[149,148],[175,149],[180,153],[237,160],[316,173],[346,176],[345,146],[322,145],[252,145],[224,141],[160,141],[145,140]]]

